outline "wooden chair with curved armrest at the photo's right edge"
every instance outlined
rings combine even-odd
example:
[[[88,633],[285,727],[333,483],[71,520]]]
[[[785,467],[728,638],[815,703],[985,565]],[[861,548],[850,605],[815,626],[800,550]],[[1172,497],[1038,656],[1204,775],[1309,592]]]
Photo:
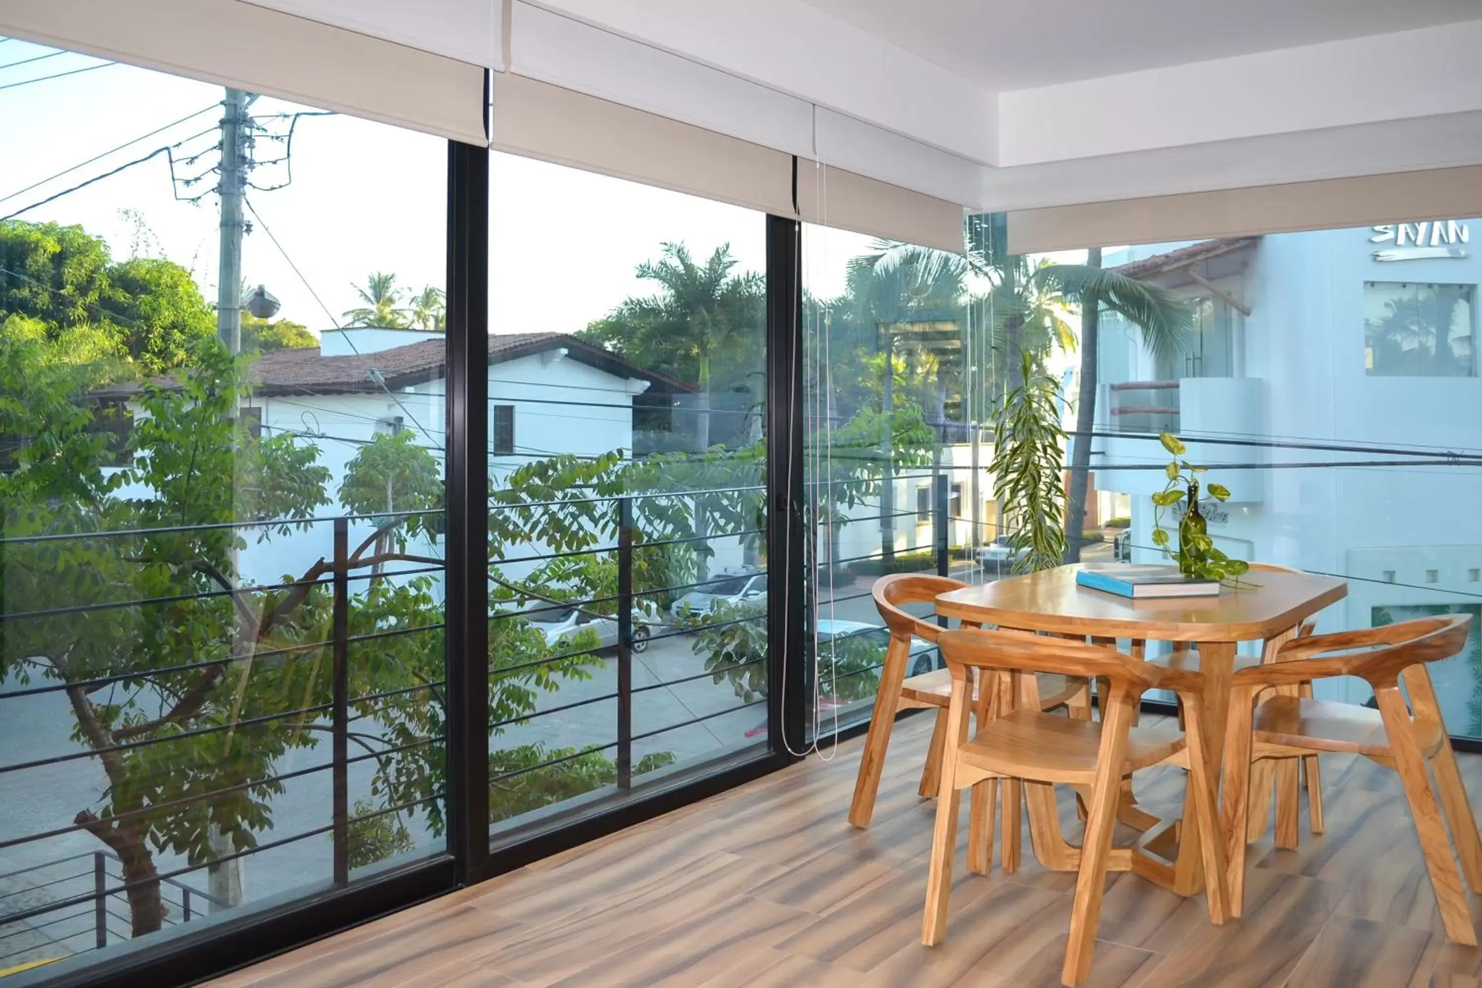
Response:
[[[1476,930],[1451,859],[1445,822],[1451,824],[1461,871],[1473,892],[1482,892],[1482,837],[1478,835],[1451,738],[1426,670],[1427,662],[1461,652],[1470,625],[1470,616],[1451,615],[1295,638],[1282,646],[1275,664],[1235,674],[1230,681],[1223,803],[1235,915],[1240,915],[1245,892],[1243,834],[1251,761],[1349,751],[1399,772],[1446,938],[1476,947]],[[1366,680],[1374,687],[1378,710],[1291,695],[1276,695],[1257,704],[1263,690],[1334,675]],[[1409,693],[1414,715],[1405,707],[1400,680]],[[1427,761],[1436,776],[1436,791],[1427,778]]]

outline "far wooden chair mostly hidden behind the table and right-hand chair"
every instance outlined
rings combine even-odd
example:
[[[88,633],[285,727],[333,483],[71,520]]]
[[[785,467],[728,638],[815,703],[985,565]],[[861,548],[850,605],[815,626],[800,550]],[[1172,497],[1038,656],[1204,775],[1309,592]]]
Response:
[[[1277,566],[1276,563],[1251,563],[1251,572],[1298,573],[1301,570],[1292,569],[1291,566]],[[1282,635],[1270,638],[1266,641],[1266,647],[1261,650],[1261,656],[1258,659],[1246,656],[1237,658],[1235,662],[1236,671],[1252,665],[1275,662],[1276,653],[1283,644],[1291,641],[1294,637],[1312,634],[1313,628],[1313,622],[1307,621]],[[1140,643],[1134,643],[1134,655],[1138,655],[1138,644]],[[1187,646],[1175,647],[1172,655],[1156,656],[1149,661],[1168,668],[1187,671],[1199,670],[1199,653],[1190,650]],[[1310,681],[1283,689],[1289,695],[1312,699]],[[1183,711],[1180,711],[1180,714],[1181,712]],[[1301,785],[1307,787],[1307,825],[1315,837],[1320,835],[1323,830],[1322,772],[1317,764],[1317,755],[1304,754],[1291,758],[1276,758],[1275,766],[1272,760],[1257,763],[1251,776],[1251,813],[1248,821],[1249,827],[1245,835],[1248,841],[1260,840],[1261,834],[1266,832],[1266,825],[1272,810],[1273,784],[1276,788],[1276,846],[1283,850],[1295,850],[1298,819],[1301,816],[1301,800],[1298,795]]]

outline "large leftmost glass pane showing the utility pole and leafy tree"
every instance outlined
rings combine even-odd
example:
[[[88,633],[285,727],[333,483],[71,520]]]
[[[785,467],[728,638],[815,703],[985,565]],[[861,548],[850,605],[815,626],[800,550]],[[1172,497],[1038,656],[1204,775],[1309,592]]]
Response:
[[[0,969],[446,846],[446,144],[6,59]]]

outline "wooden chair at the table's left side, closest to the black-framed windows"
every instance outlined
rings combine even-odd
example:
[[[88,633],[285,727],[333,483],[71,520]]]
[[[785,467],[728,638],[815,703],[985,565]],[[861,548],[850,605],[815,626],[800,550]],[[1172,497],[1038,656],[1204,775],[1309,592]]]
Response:
[[[937,600],[937,594],[950,590],[960,590],[966,584],[946,576],[922,576],[916,573],[895,573],[882,576],[874,582],[874,606],[880,612],[880,619],[891,630],[891,644],[885,652],[885,665],[880,668],[880,687],[874,695],[874,714],[870,720],[870,732],[864,739],[864,755],[860,758],[860,775],[854,784],[854,798],[849,803],[849,822],[855,827],[868,827],[874,813],[874,795],[880,788],[880,775],[885,770],[885,752],[891,747],[891,730],[895,726],[895,714],[903,710],[937,708],[937,726],[932,730],[931,748],[926,754],[926,764],[922,769],[920,794],[931,797],[937,794],[938,776],[941,772],[943,750],[947,744],[947,702],[951,696],[951,677],[947,670],[934,670],[923,675],[906,677],[906,668],[911,661],[911,637],[935,643],[943,628],[934,619],[916,618],[901,607],[906,604],[928,604]],[[1040,684],[1040,695],[1045,698],[1045,710],[1069,707],[1082,720],[1091,718],[1091,695],[1085,680],[1069,680],[1066,677],[1046,677]],[[980,715],[987,717],[996,710],[996,690],[983,693],[981,701],[975,690],[974,707]],[[1005,819],[1008,813],[1005,813]],[[1012,869],[1012,859],[1006,859],[1006,867]]]

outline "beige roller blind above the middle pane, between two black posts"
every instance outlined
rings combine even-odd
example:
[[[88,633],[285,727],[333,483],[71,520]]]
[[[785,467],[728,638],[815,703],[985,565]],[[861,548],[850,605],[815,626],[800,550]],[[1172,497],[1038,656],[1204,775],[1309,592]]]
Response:
[[[791,156],[523,76],[495,76],[494,147],[748,209],[793,210]]]

